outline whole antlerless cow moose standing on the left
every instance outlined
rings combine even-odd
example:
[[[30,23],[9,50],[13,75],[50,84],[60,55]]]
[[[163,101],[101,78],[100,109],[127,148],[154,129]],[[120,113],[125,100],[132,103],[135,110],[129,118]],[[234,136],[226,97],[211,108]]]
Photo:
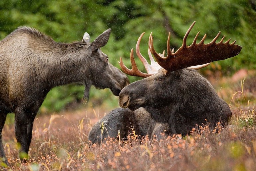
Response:
[[[129,84],[127,76],[100,50],[110,32],[109,28],[92,42],[85,33],[82,41],[60,43],[34,28],[19,27],[0,41],[0,157],[5,163],[2,129],[8,113],[15,113],[19,156],[26,162],[33,121],[51,88],[83,84],[87,100],[91,85],[119,95]]]

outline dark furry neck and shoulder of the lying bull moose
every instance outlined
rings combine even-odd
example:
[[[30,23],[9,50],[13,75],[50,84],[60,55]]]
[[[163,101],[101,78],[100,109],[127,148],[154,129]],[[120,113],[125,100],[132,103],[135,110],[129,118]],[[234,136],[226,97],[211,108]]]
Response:
[[[202,123],[209,123],[213,129],[217,122],[225,124],[231,117],[227,103],[197,72],[184,70],[180,81],[175,84],[175,93],[169,94],[169,100],[165,99],[161,105],[145,107],[154,120],[168,123],[171,134],[186,135],[188,130]]]

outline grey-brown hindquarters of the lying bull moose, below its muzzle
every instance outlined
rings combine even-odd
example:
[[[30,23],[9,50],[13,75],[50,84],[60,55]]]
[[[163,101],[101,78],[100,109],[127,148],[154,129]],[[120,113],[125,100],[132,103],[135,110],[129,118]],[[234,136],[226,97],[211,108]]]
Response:
[[[103,123],[104,122],[104,123]],[[101,136],[101,125],[105,124]],[[88,140],[92,143],[101,143],[105,138],[116,138],[118,130],[120,131],[120,138],[127,139],[127,136],[133,130],[140,137],[148,135],[150,138],[161,137],[164,130],[168,131],[167,124],[161,124],[152,119],[150,114],[143,108],[135,111],[130,109],[117,108],[109,112],[100,121],[98,121],[91,129],[88,135]]]

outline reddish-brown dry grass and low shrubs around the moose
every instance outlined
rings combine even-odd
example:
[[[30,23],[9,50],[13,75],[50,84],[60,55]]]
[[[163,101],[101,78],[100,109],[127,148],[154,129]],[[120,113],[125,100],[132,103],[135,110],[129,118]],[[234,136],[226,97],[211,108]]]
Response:
[[[4,127],[3,144],[11,169],[256,170],[256,96],[248,84],[253,81],[230,81],[228,86],[227,81],[213,83],[217,90],[222,87],[219,95],[233,112],[232,125],[224,130],[217,127],[217,134],[207,126],[192,130],[191,136],[175,135],[160,141],[138,140],[132,133],[128,141],[109,139],[99,146],[90,145],[87,135],[98,121],[97,115],[101,118],[108,112],[104,109],[37,116],[28,163],[21,164],[18,159],[13,124]]]

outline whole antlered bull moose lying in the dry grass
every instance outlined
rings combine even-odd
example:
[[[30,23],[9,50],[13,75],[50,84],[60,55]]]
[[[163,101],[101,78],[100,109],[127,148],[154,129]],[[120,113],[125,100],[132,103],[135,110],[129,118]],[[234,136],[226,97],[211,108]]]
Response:
[[[230,39],[223,43],[224,37],[216,43],[220,32],[208,44],[204,44],[206,34],[196,43],[196,34],[192,45],[186,45],[186,39],[195,22],[184,36],[182,46],[174,52],[170,48],[170,33],[167,41],[167,57],[157,53],[153,46],[152,33],[149,36],[148,54],[151,65],[141,55],[139,44],[142,33],[136,45],[136,53],[143,62],[148,73],[138,70],[131,50],[132,69],[128,69],[120,57],[120,66],[124,73],[144,79],[131,83],[119,94],[117,108],[96,123],[89,133],[92,143],[101,143],[104,138],[116,138],[118,130],[120,137],[127,138],[133,128],[137,135],[153,138],[167,135],[190,134],[197,125],[209,125],[213,130],[220,122],[227,126],[232,113],[228,104],[215,92],[212,85],[195,69],[209,65],[209,62],[224,60],[236,56],[241,46],[229,44]],[[152,54],[157,62],[154,61]],[[195,66],[197,65],[197,66]],[[107,131],[100,130],[99,123],[104,122]]]

